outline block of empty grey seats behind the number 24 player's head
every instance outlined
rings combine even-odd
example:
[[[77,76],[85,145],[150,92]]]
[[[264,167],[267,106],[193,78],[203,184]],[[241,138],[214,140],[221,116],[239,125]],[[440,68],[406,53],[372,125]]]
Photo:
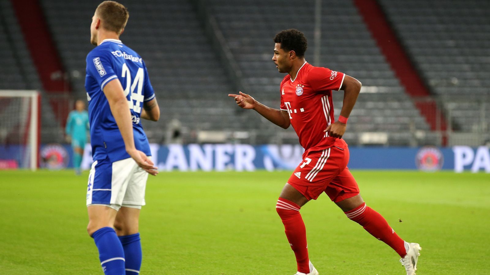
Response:
[[[100,1],[41,3],[70,72],[75,97],[85,98],[85,58],[94,48],[90,44],[90,23]],[[231,88],[191,3],[143,0],[125,4],[129,21],[121,40],[145,60],[161,107],[160,121],[144,124],[150,141],[162,141],[167,122],[173,118],[181,120],[190,129],[188,133],[221,128],[227,115],[213,114],[228,110],[230,106],[223,100]],[[229,111],[233,116],[235,110]]]

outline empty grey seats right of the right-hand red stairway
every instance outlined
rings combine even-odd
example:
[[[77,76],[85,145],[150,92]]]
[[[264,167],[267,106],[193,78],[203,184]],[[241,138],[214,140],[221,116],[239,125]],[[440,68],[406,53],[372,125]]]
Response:
[[[490,2],[380,0],[456,131],[490,129]]]

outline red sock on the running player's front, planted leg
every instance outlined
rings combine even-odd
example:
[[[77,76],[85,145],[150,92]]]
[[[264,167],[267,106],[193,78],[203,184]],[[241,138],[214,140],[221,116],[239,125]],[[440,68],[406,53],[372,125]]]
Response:
[[[310,273],[310,260],[308,259],[308,246],[306,244],[306,228],[299,214],[299,208],[301,207],[286,199],[279,198],[277,200],[276,211],[281,217],[284,232],[286,232],[289,245],[296,256],[298,271],[308,274]]]

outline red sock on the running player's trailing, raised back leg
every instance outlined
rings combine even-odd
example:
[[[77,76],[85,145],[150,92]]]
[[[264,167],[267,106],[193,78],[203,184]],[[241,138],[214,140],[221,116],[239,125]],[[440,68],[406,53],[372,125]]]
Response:
[[[366,203],[345,212],[345,215],[347,218],[362,225],[375,238],[389,245],[400,257],[403,258],[407,254],[405,242],[398,237],[385,218],[366,206]]]

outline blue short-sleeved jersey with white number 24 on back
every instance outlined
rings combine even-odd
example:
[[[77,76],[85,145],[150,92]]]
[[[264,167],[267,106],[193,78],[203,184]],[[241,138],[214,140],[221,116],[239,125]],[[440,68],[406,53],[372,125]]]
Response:
[[[94,160],[109,158],[112,162],[130,158],[109,102],[102,92],[105,85],[116,78],[123,85],[128,101],[136,149],[151,156],[140,115],[143,102],[155,97],[153,87],[140,55],[116,39],[105,39],[87,55],[85,90],[89,102],[92,156]]]

